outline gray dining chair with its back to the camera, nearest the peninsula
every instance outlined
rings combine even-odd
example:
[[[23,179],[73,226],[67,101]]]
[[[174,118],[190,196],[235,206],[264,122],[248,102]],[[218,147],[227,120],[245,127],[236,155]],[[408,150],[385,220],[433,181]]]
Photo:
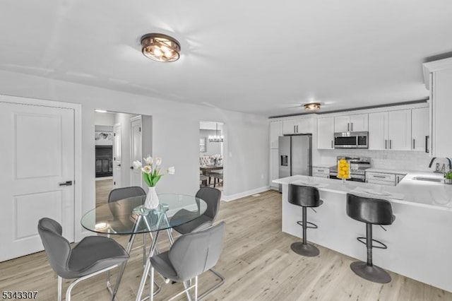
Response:
[[[169,280],[189,283],[185,290],[174,297],[194,288],[194,300],[197,301],[198,276],[217,264],[222,252],[224,233],[225,222],[221,222],[206,230],[179,237],[169,251],[157,254],[150,259],[150,283],[154,282],[154,270],[156,270]],[[194,285],[191,285],[193,278]],[[151,301],[154,296],[153,290],[154,285],[150,285]]]

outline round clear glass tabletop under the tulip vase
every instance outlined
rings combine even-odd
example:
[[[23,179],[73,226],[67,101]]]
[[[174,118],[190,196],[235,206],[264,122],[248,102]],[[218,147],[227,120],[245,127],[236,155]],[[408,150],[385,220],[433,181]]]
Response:
[[[159,194],[155,209],[143,206],[146,196],[134,196],[105,203],[85,213],[83,228],[104,234],[136,234],[155,232],[188,223],[201,216],[207,208],[203,199],[183,194]]]

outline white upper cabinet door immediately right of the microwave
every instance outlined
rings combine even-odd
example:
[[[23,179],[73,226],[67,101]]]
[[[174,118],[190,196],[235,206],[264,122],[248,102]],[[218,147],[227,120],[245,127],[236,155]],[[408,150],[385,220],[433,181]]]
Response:
[[[369,150],[388,148],[388,112],[370,113]]]

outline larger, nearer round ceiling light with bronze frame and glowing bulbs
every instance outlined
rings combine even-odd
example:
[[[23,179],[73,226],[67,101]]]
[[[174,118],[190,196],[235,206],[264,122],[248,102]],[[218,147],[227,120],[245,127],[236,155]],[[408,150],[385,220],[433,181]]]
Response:
[[[162,33],[148,33],[141,37],[141,52],[154,61],[177,61],[181,45],[174,37]]]

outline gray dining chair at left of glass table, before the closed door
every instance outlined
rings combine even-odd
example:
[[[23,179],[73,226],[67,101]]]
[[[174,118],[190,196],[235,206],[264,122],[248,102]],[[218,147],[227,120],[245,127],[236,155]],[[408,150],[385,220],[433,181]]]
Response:
[[[58,275],[58,300],[61,301],[63,278],[74,279],[66,290],[66,300],[71,300],[71,290],[80,281],[116,268],[129,259],[120,244],[108,237],[89,236],[71,248],[62,235],[61,225],[51,218],[42,218],[37,224],[49,264]],[[119,281],[117,281],[119,283]],[[109,277],[107,288],[113,294]]]

